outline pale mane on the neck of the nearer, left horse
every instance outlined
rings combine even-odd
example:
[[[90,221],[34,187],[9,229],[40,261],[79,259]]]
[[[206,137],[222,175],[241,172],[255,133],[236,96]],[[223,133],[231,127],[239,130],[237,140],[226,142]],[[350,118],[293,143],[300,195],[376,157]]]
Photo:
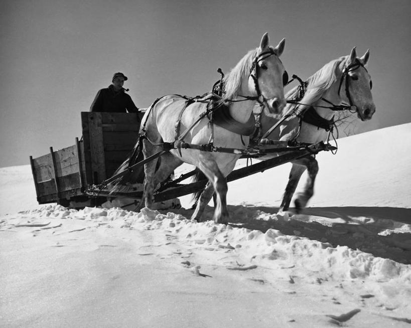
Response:
[[[230,73],[224,77],[223,83],[225,94],[223,96],[223,101],[232,100],[238,94],[242,79],[244,76],[248,76],[258,49],[259,48],[250,50],[243,58],[241,58],[237,65],[231,69]],[[271,47],[270,49],[273,50]]]

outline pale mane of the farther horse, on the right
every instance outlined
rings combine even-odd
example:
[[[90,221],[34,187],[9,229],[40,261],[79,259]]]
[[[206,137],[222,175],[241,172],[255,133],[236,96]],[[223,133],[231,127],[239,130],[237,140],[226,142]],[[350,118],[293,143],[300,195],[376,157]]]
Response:
[[[311,106],[316,101],[321,99],[323,94],[331,88],[334,82],[337,81],[337,68],[340,67],[341,64],[345,64],[346,61],[349,59],[349,56],[343,56],[338,59],[334,59],[329,63],[325,64],[322,68],[320,68],[317,72],[311,75],[307,79],[307,90],[304,94],[303,99],[300,100],[301,103]],[[295,99],[298,97],[298,86],[291,89],[286,94],[287,99]],[[292,105],[292,109],[296,108],[297,106],[304,106],[304,105]],[[289,113],[290,110],[285,110],[284,114]]]

